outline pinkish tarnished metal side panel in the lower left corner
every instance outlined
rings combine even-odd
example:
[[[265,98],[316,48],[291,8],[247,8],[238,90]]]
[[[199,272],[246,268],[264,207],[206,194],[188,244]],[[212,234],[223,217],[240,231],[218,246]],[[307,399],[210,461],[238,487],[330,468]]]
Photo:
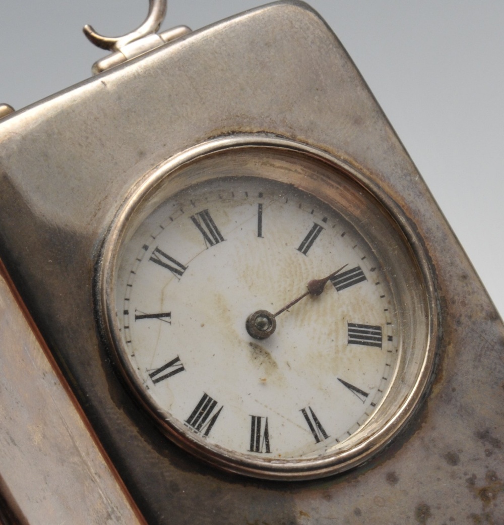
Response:
[[[1,263],[0,337],[0,493],[10,519],[145,523],[9,289]]]

